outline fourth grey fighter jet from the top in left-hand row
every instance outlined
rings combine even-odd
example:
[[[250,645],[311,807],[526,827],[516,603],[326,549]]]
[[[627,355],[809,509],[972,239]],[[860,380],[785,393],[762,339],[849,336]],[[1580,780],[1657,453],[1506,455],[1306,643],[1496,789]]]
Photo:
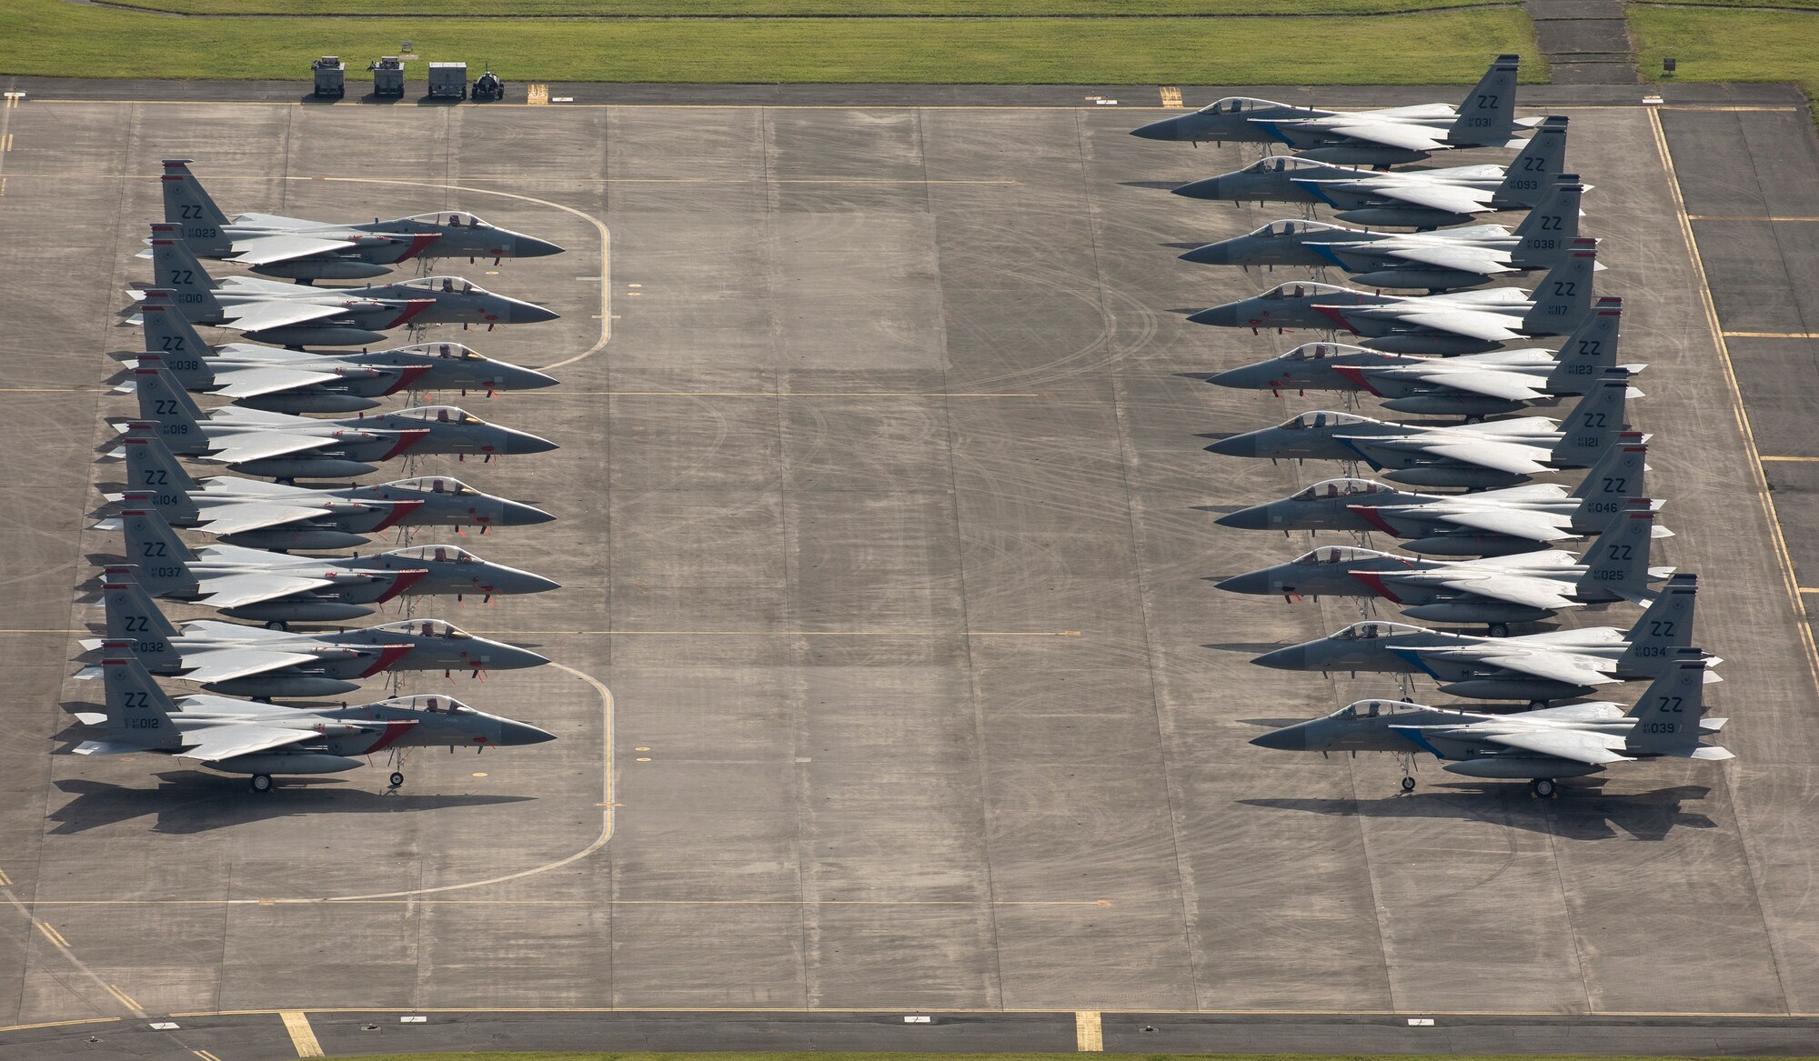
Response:
[[[487,423],[453,405],[418,405],[355,420],[313,420],[236,405],[204,416],[156,356],[138,360],[133,385],[138,420],[156,423],[171,452],[275,480],[364,476],[375,471],[367,461],[404,452],[491,460],[557,449],[548,438]]]

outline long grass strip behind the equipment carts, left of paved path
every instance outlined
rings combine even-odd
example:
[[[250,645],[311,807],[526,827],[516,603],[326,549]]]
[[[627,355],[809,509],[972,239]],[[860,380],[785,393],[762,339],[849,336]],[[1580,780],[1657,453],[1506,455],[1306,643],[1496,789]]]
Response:
[[[0,73],[307,80],[340,55],[358,85],[398,40],[511,82],[1472,84],[1523,53],[1512,7],[1375,18],[173,18],[64,0],[0,0]],[[1332,42],[1344,40],[1346,47]],[[418,64],[409,76],[424,76]],[[353,89],[351,85],[351,89]],[[358,91],[358,89],[353,89]]]

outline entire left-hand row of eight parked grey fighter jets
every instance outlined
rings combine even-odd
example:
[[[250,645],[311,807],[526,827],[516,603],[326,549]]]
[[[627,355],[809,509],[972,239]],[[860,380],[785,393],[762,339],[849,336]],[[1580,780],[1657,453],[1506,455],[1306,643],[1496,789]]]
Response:
[[[333,707],[278,705],[275,698],[357,692],[358,679],[406,670],[466,670],[548,663],[517,645],[477,638],[453,623],[406,618],[366,629],[300,630],[340,623],[380,603],[418,596],[528,594],[558,589],[528,570],[489,563],[457,545],[404,545],[360,552],[373,534],[398,527],[520,527],[549,512],[486,494],[447,474],[413,474],[378,485],[298,485],[296,480],[364,476],[384,461],[427,454],[528,454],[557,449],[535,434],[487,423],[455,405],[391,412],[382,398],[424,391],[553,387],[557,380],[486,358],[462,343],[415,342],[358,354],[307,352],[304,343],[358,345],[389,329],[424,323],[526,323],[557,314],[482,291],[455,276],[377,287],[309,287],[324,278],[369,278],[411,258],[537,256],[560,247],[440,211],[397,222],[331,225],[269,214],[224,216],[189,173],[164,164],[164,222],[151,225],[153,283],[133,293],[127,323],[144,327],[122,391],[136,416],[122,423],[126,487],[106,494],[118,514],[126,563],[102,576],[106,638],[82,641],[98,661],[80,678],[102,678],[106,710],[75,712],[85,727],[69,750],[82,756],[162,754],[226,774],[246,774],[267,792],[275,774],[351,770],[377,752],[404,783],[406,749],[528,745],[555,739],[535,725],[486,714],[444,694],[404,694]],[[267,276],[213,280],[196,256],[247,265]],[[209,345],[198,323],[284,343]],[[195,394],[227,398],[204,411]],[[335,420],[304,412],[347,414]],[[238,476],[204,476],[184,461],[224,465]],[[260,478],[244,478],[260,476]],[[264,481],[273,480],[273,481]],[[176,527],[218,536],[187,545]],[[462,530],[464,532],[464,530]],[[293,550],[353,549],[315,556]],[[155,598],[202,603],[264,625],[176,625]],[[175,678],[206,694],[173,699],[156,683]],[[251,699],[236,699],[251,698]]]

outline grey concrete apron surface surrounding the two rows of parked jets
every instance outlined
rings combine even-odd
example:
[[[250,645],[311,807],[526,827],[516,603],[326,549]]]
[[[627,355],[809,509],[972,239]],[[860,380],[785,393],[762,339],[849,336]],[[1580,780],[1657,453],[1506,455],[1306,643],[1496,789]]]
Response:
[[[20,734],[0,745],[0,1056],[124,1050],[127,1028],[151,1050],[167,1019],[215,1028],[169,1039],[180,1056],[295,1056],[280,1010],[340,1054],[400,1048],[366,1023],[540,1043],[526,1025],[569,1019],[513,1008],[746,1030],[793,1017],[706,1010],[795,1010],[817,1046],[886,1025],[942,1048],[1088,1046],[1082,1026],[1108,1050],[1361,1041],[1332,1021],[1479,1041],[1406,1023],[1435,1014],[1535,1028],[1499,1048],[1633,1052],[1657,1036],[1639,1026],[1679,1026],[1663,1014],[1743,1028],[1675,1052],[1810,1041],[1814,461],[1768,460],[1819,458],[1804,113],[1568,111],[1599,289],[1650,363],[1632,420],[1677,532],[1657,563],[1703,576],[1739,758],[1533,801],[1432,765],[1404,798],[1388,758],[1246,743],[1393,685],[1251,667],[1355,610],[1202,578],[1306,538],[1199,507],[1332,469],[1195,434],[1322,402],[1182,378],[1297,342],[1184,323],[1270,278],[1175,260],[1282,211],[1170,196],[1246,156],[1135,140],[1126,111],[0,109],[0,452],[20,458],[0,481]],[[196,160],[229,211],[460,207],[569,249],[442,269],[562,312],[455,336],[562,387],[451,400],[564,449],[422,465],[557,512],[462,545],[564,589],[417,609],[564,669],[411,683],[557,743],[420,754],[400,794],[369,768],[266,798],[51,754],[58,701],[93,696],[67,659],[118,543],[84,527],[118,480],[104,418],[131,409],[104,352],[138,334],[115,311],[160,158]],[[917,1010],[966,1016],[904,1025]],[[684,1041],[640,1025],[682,1017],[595,1019]]]

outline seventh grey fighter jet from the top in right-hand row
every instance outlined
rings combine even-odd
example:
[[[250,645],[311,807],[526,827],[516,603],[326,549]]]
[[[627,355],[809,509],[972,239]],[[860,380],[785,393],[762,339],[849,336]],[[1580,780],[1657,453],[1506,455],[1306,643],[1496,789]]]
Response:
[[[1401,547],[1428,556],[1504,556],[1553,541],[1603,534],[1626,498],[1644,494],[1648,443],[1635,431],[1572,491],[1528,483],[1475,494],[1410,494],[1372,480],[1322,480],[1281,501],[1251,505],[1215,520],[1239,530],[1382,530],[1408,538]],[[1670,538],[1655,527],[1655,538]]]

